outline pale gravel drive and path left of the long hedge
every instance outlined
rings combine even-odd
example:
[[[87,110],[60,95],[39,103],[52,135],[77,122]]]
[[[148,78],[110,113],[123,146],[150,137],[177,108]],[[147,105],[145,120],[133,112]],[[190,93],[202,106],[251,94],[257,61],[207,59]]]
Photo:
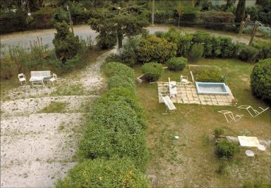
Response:
[[[76,164],[73,156],[88,112],[83,106],[99,97],[104,85],[100,66],[115,51],[99,56],[76,80],[62,79],[56,84],[81,84],[89,95],[51,96],[54,87],[29,88],[32,92],[24,92],[28,86],[11,89],[20,94],[1,101],[1,187],[54,187]],[[67,104],[63,113],[40,113],[52,101]]]

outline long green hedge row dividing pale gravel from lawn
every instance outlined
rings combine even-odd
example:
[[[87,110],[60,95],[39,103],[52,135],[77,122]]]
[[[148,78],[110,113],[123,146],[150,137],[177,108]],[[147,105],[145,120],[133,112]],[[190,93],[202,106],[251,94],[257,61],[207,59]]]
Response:
[[[62,187],[150,187],[145,116],[135,96],[135,73],[112,62],[104,74],[117,82],[92,106],[77,151],[81,162],[68,172]],[[127,84],[127,80],[129,80]]]

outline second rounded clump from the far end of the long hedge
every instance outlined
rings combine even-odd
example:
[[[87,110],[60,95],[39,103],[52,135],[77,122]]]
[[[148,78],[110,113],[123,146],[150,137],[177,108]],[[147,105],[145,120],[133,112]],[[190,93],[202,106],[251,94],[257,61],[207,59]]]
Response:
[[[113,76],[109,77],[107,80],[107,86],[109,89],[112,89],[114,87],[127,87],[131,89],[132,91],[135,90],[135,83],[130,77],[124,77],[124,76]]]

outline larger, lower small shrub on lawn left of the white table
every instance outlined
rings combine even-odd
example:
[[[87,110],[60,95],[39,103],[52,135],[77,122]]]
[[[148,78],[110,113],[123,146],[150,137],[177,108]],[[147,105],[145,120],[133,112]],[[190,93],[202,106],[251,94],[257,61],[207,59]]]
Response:
[[[231,158],[236,153],[236,145],[227,139],[217,142],[216,152],[219,157]]]

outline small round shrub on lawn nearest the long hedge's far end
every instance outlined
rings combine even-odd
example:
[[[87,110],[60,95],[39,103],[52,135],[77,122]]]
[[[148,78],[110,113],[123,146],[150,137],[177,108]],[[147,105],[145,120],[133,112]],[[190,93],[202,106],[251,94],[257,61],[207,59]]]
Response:
[[[159,79],[159,77],[162,75],[162,68],[163,65],[155,62],[151,63],[145,63],[141,70],[143,74],[145,74],[145,77],[150,82],[155,82]]]

